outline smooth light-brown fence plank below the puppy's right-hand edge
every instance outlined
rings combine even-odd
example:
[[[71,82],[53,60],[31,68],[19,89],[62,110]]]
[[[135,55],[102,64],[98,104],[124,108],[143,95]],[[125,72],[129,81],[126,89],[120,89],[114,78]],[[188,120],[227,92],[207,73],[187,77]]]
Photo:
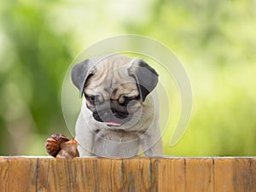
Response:
[[[159,192],[185,192],[185,160],[160,159],[158,166]]]

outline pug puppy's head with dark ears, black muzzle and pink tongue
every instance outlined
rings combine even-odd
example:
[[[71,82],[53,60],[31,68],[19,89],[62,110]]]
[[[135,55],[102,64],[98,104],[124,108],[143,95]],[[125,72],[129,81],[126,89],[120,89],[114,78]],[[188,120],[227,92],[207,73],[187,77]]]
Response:
[[[143,60],[108,55],[75,65],[72,80],[96,121],[119,126],[142,107],[158,83],[158,74]]]

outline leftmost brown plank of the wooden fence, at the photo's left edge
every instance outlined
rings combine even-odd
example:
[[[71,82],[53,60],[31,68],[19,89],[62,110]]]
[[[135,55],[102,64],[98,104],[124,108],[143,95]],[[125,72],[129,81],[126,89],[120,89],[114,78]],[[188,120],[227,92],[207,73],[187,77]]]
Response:
[[[38,158],[0,158],[0,191],[36,191]]]

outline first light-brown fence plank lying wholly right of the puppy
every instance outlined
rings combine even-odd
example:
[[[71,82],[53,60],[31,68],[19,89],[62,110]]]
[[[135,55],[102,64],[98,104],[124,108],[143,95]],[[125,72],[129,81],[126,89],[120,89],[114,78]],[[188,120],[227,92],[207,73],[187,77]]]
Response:
[[[186,159],[186,192],[213,192],[213,160]]]

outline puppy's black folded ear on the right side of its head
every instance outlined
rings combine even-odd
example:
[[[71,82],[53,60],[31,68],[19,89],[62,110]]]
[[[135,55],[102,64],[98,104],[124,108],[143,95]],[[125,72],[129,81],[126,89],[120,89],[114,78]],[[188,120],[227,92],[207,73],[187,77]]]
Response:
[[[144,102],[146,96],[154,90],[158,83],[158,73],[154,71],[154,68],[148,66],[145,61],[139,59],[131,63],[128,73],[136,79],[140,98]]]

